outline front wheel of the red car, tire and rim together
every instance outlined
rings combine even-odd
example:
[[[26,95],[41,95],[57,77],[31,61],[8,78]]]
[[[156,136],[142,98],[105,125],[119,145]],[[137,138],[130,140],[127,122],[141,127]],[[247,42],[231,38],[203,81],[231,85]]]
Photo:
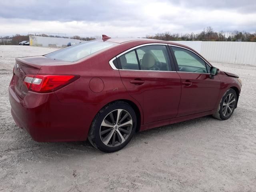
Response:
[[[220,105],[218,110],[213,116],[219,120],[226,120],[230,118],[236,108],[237,95],[234,89],[229,89],[222,100],[220,101]]]

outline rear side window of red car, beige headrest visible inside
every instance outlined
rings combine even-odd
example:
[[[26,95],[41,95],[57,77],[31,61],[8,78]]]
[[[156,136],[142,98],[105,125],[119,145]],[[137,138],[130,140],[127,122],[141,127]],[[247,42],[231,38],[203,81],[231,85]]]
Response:
[[[119,57],[120,69],[171,71],[170,58],[165,45],[148,45]]]

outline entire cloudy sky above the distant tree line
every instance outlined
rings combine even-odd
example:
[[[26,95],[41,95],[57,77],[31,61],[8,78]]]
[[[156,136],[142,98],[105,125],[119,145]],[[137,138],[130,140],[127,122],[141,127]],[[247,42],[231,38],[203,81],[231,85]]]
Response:
[[[256,0],[0,0],[0,36],[256,32]]]

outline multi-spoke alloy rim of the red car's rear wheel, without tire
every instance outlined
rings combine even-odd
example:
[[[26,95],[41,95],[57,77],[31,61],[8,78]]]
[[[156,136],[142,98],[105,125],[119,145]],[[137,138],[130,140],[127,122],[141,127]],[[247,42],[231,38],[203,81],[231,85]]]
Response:
[[[123,109],[110,112],[100,125],[100,139],[109,147],[116,147],[126,141],[132,131],[132,116]]]

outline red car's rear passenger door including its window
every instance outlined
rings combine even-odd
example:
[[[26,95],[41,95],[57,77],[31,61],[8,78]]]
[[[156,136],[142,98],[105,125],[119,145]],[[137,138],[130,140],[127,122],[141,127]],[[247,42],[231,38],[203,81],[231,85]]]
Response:
[[[174,118],[178,113],[180,76],[165,44],[139,46],[117,56],[122,82],[143,109],[144,124]]]

